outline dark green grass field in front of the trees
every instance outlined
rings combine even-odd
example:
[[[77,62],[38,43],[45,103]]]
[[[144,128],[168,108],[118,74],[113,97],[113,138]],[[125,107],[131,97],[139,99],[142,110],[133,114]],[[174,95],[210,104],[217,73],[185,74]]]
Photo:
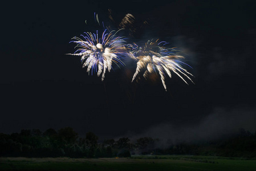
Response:
[[[209,156],[0,157],[0,170],[256,170],[256,160]]]

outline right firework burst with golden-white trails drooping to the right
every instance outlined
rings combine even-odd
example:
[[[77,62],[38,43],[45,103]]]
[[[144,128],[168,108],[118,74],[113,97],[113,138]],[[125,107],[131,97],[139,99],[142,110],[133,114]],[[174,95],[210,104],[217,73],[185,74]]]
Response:
[[[144,47],[138,47],[135,43],[128,44],[128,48],[131,50],[131,52],[129,52],[129,56],[131,56],[132,59],[137,60],[137,68],[135,74],[133,75],[132,82],[140,72],[144,72],[143,76],[145,79],[147,79],[148,74],[157,71],[160,74],[165,91],[165,73],[172,78],[172,71],[177,74],[186,84],[188,83],[181,75],[185,76],[192,82],[188,75],[193,75],[181,67],[181,64],[185,64],[180,61],[180,59],[184,58],[184,56],[176,55],[175,48],[165,48],[164,45],[167,43],[157,43],[158,40],[159,39],[157,39],[156,42],[149,40],[147,43],[145,43]],[[161,46],[161,44],[163,45]]]

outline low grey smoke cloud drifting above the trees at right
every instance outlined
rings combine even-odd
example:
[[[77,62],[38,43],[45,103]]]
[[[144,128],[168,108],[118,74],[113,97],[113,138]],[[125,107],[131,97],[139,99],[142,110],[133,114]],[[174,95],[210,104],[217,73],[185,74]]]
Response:
[[[170,123],[153,125],[143,133],[125,135],[132,141],[140,137],[153,137],[161,140],[161,146],[169,143],[200,142],[222,139],[239,133],[239,128],[254,133],[256,129],[256,107],[238,107],[234,109],[215,108],[197,124],[174,126]]]

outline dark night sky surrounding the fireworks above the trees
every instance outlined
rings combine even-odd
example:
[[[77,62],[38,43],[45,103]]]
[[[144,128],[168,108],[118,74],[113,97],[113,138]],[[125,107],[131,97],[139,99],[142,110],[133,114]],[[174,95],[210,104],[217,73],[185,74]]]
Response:
[[[100,139],[173,132],[215,137],[241,127],[254,132],[255,8],[255,1],[5,2],[0,132],[72,127]],[[160,38],[178,47],[195,84],[166,78],[166,92],[160,78],[131,83],[131,61],[104,82],[88,75],[79,58],[64,54],[75,51],[73,36],[97,29],[94,13],[113,28],[127,13],[138,25],[148,21],[128,41]]]

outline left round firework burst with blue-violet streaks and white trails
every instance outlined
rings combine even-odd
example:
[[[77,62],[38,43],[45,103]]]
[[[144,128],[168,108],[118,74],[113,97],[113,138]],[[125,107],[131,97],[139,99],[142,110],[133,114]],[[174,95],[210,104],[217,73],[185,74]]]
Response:
[[[122,63],[120,57],[123,54],[125,41],[123,37],[115,36],[117,32],[107,33],[107,30],[104,30],[101,36],[98,35],[98,31],[96,34],[84,32],[86,35],[81,35],[84,40],[75,36],[72,38],[75,41],[71,42],[77,43],[76,47],[79,49],[74,54],[67,55],[81,56],[81,62],[83,67],[87,67],[87,72],[96,71],[97,76],[102,74],[101,80],[103,81],[106,70],[110,72],[112,68],[112,62]]]

